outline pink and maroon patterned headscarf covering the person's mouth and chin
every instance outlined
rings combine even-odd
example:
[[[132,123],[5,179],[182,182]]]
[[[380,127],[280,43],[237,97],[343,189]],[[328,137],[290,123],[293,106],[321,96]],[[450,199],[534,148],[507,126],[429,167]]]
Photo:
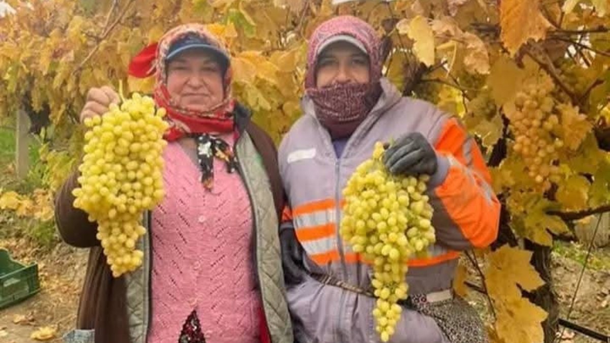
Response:
[[[340,84],[317,88],[316,63],[318,47],[336,35],[350,35],[362,43],[370,60],[368,84]],[[373,109],[381,95],[381,42],[365,21],[354,16],[337,16],[315,29],[307,51],[306,94],[315,106],[315,115],[333,139],[351,135]]]

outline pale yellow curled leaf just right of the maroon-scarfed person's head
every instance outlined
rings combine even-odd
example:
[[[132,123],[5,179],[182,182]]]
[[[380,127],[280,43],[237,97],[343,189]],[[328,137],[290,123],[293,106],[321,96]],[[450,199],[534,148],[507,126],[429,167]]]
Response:
[[[413,49],[420,61],[428,67],[434,64],[434,32],[426,18],[418,15],[410,21],[403,19],[398,22],[397,29],[401,35],[406,34],[415,41]]]

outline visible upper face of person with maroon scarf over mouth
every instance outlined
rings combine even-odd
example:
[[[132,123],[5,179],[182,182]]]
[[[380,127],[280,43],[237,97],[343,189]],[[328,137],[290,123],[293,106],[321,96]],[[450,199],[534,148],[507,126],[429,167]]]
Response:
[[[325,48],[316,62],[317,88],[336,84],[370,81],[370,61],[367,54],[347,42],[333,43]]]

